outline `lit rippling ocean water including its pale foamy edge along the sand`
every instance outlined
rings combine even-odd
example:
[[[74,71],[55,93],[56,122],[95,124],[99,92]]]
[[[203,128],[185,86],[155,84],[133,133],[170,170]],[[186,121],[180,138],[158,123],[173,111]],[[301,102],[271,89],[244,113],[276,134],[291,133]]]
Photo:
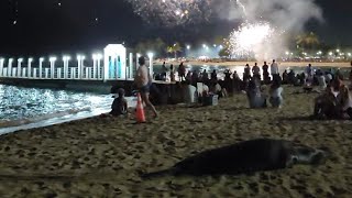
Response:
[[[110,111],[112,95],[0,85],[0,134]],[[135,98],[128,98],[129,107]]]

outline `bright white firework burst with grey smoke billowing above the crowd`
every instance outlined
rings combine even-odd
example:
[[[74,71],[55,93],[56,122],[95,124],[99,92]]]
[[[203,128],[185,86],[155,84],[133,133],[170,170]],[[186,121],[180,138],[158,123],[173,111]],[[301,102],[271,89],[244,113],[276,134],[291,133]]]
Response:
[[[233,1],[221,4],[218,11],[222,19],[244,21],[230,34],[230,53],[257,59],[279,56],[288,48],[287,37],[301,32],[310,19],[322,21],[321,10],[314,1],[237,0],[237,6]]]

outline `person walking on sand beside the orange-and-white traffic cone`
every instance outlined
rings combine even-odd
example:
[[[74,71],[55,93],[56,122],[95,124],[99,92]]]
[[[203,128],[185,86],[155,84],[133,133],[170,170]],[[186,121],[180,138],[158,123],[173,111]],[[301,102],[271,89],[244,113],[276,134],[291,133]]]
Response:
[[[153,103],[150,101],[150,88],[152,85],[152,78],[148,74],[147,67],[145,66],[145,58],[141,56],[139,58],[140,67],[136,70],[136,76],[134,78],[134,82],[136,84],[140,92],[142,101],[146,105],[146,107],[151,108],[154,117],[157,117],[157,112]]]

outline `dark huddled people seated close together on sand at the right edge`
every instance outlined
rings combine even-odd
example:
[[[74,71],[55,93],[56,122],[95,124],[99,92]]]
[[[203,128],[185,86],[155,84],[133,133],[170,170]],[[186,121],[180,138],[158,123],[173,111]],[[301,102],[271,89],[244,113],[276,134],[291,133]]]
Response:
[[[334,78],[326,92],[316,98],[314,116],[316,118],[342,119],[352,118],[350,91],[339,78]]]

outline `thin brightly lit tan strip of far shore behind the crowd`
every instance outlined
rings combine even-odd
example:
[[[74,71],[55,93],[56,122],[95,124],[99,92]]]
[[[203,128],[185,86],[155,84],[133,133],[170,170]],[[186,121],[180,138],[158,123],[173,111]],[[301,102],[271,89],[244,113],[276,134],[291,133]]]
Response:
[[[250,64],[250,66],[253,66],[254,63],[258,63],[258,66],[263,65],[263,62],[200,62],[200,61],[189,61],[184,62],[186,65],[193,65],[193,66],[228,66],[228,67],[234,67],[234,66],[245,66],[245,64]],[[312,67],[341,67],[346,68],[351,67],[350,62],[277,62],[279,67],[305,67],[308,64],[311,64]],[[163,65],[163,61],[155,61],[155,65]],[[174,66],[178,66],[180,62],[166,62],[166,65],[173,64]],[[267,62],[267,65],[270,65],[271,62]]]

